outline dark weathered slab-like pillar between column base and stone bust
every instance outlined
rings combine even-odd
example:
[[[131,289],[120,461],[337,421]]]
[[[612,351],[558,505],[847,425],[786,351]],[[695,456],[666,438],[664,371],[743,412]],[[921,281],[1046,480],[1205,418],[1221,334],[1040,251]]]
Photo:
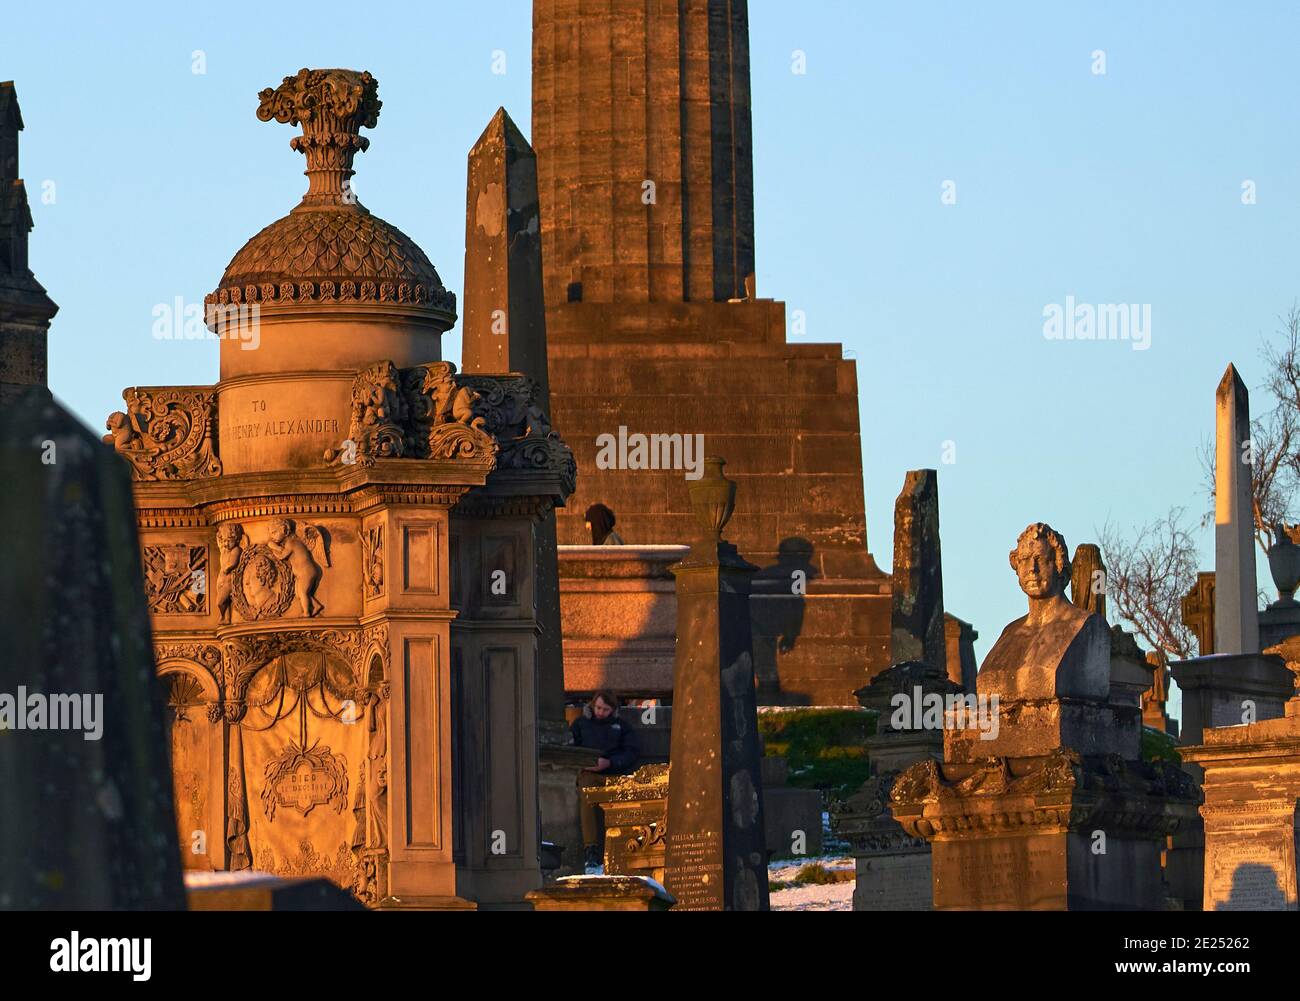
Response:
[[[948,671],[944,569],[939,545],[939,473],[913,469],[894,502],[894,663],[920,660]]]

